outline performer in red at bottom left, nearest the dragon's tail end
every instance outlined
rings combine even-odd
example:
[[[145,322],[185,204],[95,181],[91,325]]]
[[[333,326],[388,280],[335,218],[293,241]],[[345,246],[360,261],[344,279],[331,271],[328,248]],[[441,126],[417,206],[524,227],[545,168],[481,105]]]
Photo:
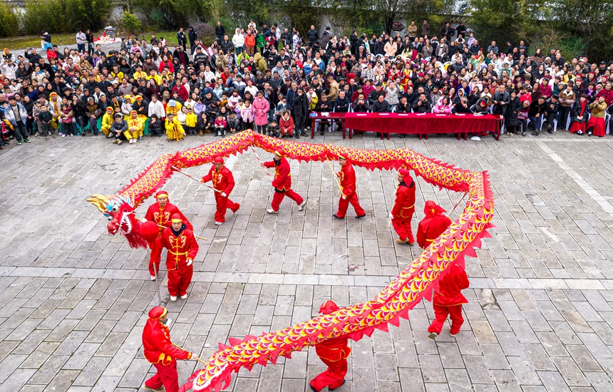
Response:
[[[143,329],[143,348],[145,359],[153,363],[158,371],[145,381],[143,389],[152,392],[178,392],[179,376],[177,359],[192,359],[192,353],[172,346],[168,311],[164,306],[155,306],[149,311],[149,319]],[[164,389],[165,388],[165,389]]]

